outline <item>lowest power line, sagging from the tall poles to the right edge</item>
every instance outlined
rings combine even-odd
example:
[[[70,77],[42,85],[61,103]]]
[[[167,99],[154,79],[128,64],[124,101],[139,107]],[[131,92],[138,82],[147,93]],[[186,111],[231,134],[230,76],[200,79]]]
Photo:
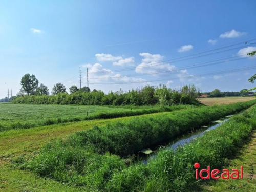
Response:
[[[202,76],[202,75],[223,74],[223,73],[237,72],[237,71],[243,71],[243,70],[249,70],[249,69],[256,69],[256,67],[255,66],[253,66],[253,67],[248,67],[247,66],[245,68],[229,69],[229,70],[224,70],[224,71],[217,71],[217,72],[193,75],[193,77],[195,77],[195,76]],[[191,77],[191,76],[183,76],[183,78],[186,78],[186,77]],[[159,80],[153,80],[153,81],[136,81],[136,82],[123,82],[123,83],[90,83],[90,84],[109,84],[109,85],[110,84],[134,84],[134,83],[148,83],[148,82],[166,81],[166,80],[173,80],[173,79],[179,79],[179,77],[167,78],[167,79],[159,79]]]

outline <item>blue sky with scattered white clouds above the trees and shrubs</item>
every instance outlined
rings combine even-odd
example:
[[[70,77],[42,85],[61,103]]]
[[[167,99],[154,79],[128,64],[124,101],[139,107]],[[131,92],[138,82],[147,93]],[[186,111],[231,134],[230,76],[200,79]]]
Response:
[[[243,43],[256,38],[255,9],[255,1],[1,1],[0,98],[8,88],[16,94],[26,73],[50,91],[57,82],[78,86],[79,67],[104,92],[159,83],[251,88],[256,70],[232,69],[256,66],[245,56],[256,44]]]

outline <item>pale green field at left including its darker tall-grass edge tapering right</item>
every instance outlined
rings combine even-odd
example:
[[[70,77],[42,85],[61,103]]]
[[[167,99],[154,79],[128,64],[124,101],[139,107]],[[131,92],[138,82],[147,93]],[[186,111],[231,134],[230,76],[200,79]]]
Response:
[[[36,105],[3,103],[0,105],[0,131],[10,129],[27,129],[36,126],[46,126],[82,120],[135,116],[188,109],[192,107],[193,106],[189,105],[177,105],[170,107],[130,106],[130,108],[113,108],[107,106],[90,105]]]

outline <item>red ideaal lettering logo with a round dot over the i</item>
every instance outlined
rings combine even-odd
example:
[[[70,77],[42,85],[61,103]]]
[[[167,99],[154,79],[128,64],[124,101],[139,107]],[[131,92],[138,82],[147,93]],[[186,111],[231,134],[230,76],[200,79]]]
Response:
[[[231,172],[229,169],[222,169],[221,170],[215,168],[215,169],[210,169],[210,166],[207,166],[207,169],[201,169],[199,163],[195,163],[194,167],[196,168],[196,179],[219,179],[220,177],[222,179],[243,179],[243,166],[240,166],[240,170],[238,169],[232,169]],[[221,175],[219,175],[221,173]],[[217,176],[218,175],[218,176]]]

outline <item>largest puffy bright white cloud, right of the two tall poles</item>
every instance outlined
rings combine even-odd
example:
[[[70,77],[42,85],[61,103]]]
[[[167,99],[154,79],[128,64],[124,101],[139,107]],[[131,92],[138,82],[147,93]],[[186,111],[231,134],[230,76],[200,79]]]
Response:
[[[141,63],[136,67],[136,73],[158,73],[162,71],[173,71],[175,66],[169,63],[163,63],[163,56],[159,54],[140,53]],[[161,63],[162,62],[162,63]],[[157,74],[155,74],[157,75]],[[160,75],[166,75],[164,73]]]

